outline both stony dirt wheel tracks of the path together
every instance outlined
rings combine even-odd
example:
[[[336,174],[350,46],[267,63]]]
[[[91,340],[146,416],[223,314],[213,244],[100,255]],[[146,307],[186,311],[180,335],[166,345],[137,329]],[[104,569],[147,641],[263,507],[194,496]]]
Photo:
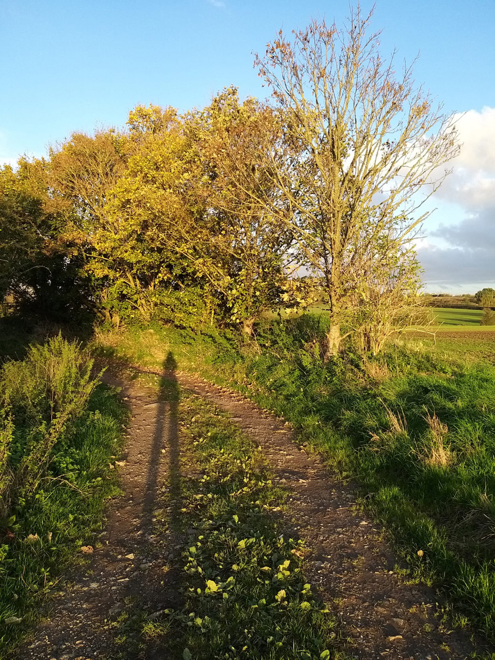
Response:
[[[129,603],[134,612],[148,614],[178,604],[178,540],[152,534],[160,484],[168,475],[173,477],[178,465],[178,385],[230,413],[261,446],[276,479],[292,491],[287,527],[311,548],[307,577],[325,601],[337,607],[354,657],[469,657],[473,643],[464,632],[452,632],[442,624],[435,593],[422,585],[405,585],[394,572],[395,557],[380,541],[380,531],[354,512],[352,486],[334,482],[317,457],[298,446],[294,432],[230,391],[186,374],[168,377],[166,399],[143,387],[124,385],[123,396],[133,413],[121,468],[125,494],[110,506],[102,547],[92,555],[92,574],[81,572],[75,586],[53,601],[51,614],[16,658],[166,657],[156,644],[140,648],[138,641],[131,654],[127,649],[123,656],[112,621]]]

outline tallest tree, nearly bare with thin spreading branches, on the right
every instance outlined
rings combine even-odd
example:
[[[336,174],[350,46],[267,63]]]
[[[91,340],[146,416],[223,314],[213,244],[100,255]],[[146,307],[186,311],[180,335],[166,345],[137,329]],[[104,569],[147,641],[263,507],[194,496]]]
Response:
[[[392,275],[457,153],[451,117],[415,86],[411,67],[397,73],[393,57],[382,59],[370,17],[358,10],[343,30],[323,20],[292,39],[280,32],[257,58],[298,154],[272,158],[273,172],[294,211],[281,222],[325,291],[327,355],[339,350],[342,324],[356,325],[356,290],[373,286],[369,246]]]

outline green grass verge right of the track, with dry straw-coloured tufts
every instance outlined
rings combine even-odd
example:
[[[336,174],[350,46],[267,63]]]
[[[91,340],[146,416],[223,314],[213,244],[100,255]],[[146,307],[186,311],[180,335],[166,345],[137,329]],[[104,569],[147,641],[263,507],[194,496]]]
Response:
[[[494,358],[493,343],[403,339],[378,358],[349,349],[325,365],[321,327],[310,315],[272,321],[258,347],[158,326],[100,341],[102,352],[149,366],[172,348],[179,368],[283,415],[331,471],[372,494],[363,506],[413,575],[495,638],[495,365],[480,360]]]

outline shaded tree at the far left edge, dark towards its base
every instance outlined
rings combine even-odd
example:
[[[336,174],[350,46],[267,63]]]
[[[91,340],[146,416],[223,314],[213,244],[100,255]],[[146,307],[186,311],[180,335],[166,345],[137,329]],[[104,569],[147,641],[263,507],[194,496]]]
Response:
[[[10,295],[16,312],[65,321],[89,314],[91,304],[46,166],[23,157],[16,170],[0,169],[0,296]]]

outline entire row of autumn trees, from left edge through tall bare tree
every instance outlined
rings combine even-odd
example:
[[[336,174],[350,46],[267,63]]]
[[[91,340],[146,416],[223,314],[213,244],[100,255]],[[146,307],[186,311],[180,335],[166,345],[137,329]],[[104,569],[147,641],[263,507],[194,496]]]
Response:
[[[19,312],[253,333],[323,301],[326,355],[418,323],[414,237],[457,153],[451,117],[396,74],[370,16],[312,22],[257,57],[263,102],[137,106],[0,170],[0,292]]]

